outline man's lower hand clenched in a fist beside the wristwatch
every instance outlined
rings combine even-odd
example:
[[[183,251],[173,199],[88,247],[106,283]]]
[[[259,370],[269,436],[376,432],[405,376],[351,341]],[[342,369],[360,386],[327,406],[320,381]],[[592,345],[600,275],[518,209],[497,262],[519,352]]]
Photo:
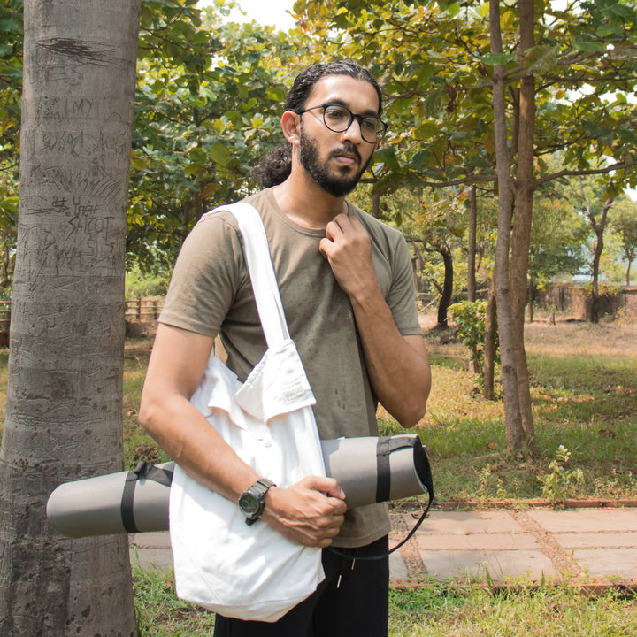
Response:
[[[292,487],[271,487],[261,518],[289,541],[325,548],[338,534],[346,510],[345,494],[334,478],[307,476]]]

